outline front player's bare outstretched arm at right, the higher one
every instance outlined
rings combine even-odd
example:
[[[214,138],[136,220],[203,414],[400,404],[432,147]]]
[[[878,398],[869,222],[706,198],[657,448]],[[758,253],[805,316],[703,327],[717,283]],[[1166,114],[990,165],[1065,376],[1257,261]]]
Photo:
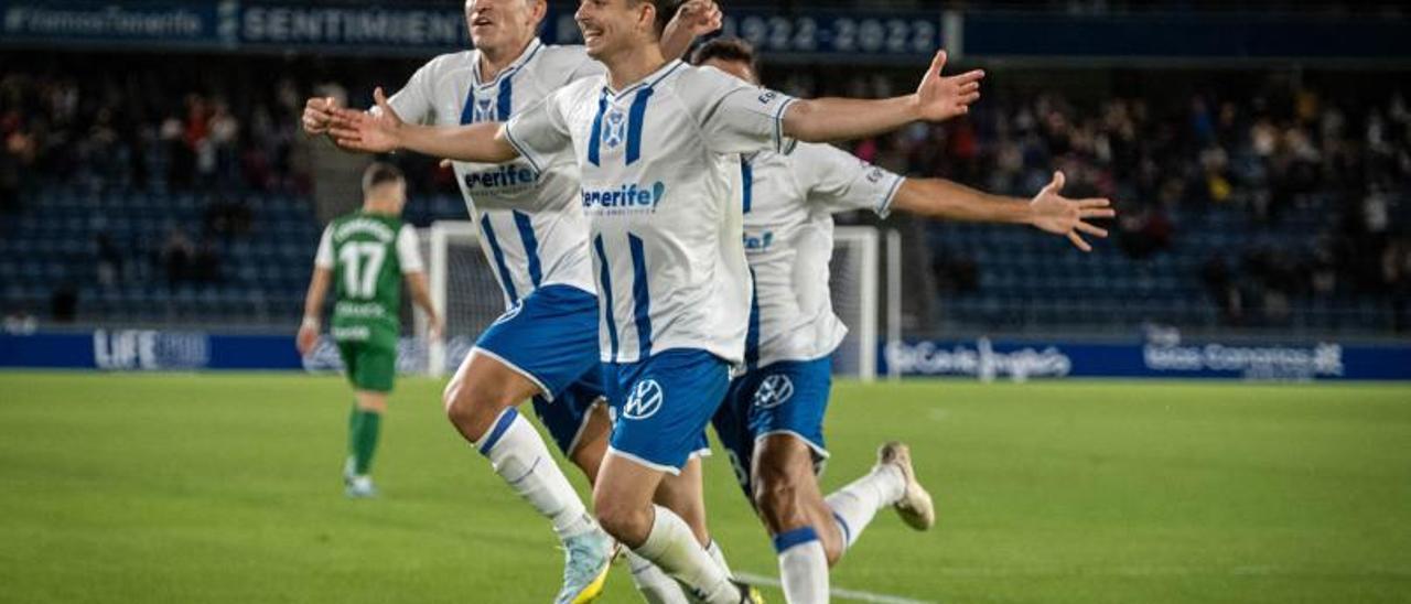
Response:
[[[916,92],[882,100],[799,100],[785,113],[785,134],[809,143],[845,141],[889,133],[913,121],[945,121],[969,113],[979,100],[981,69],[943,76],[945,51],[921,78]]]

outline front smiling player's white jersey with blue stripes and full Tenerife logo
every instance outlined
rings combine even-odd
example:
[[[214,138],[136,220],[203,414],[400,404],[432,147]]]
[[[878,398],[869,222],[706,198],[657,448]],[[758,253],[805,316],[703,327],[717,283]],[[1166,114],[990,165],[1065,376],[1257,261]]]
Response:
[[[535,165],[570,147],[591,224],[602,360],[670,349],[741,363],[749,320],[739,155],[787,152],[793,99],[672,61],[612,90],[587,78],[507,126]]]

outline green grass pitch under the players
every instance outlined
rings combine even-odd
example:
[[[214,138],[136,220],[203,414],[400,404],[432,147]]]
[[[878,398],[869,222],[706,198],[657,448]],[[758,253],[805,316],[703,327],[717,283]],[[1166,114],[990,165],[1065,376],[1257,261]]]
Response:
[[[401,382],[384,497],[347,501],[336,378],[0,373],[0,601],[549,601],[552,533],[459,440],[439,392]],[[828,419],[825,490],[895,437],[940,505],[930,533],[883,511],[834,587],[935,603],[1411,601],[1407,387],[840,384]],[[776,574],[725,457],[707,469],[731,563]],[[602,601],[639,601],[625,569]]]

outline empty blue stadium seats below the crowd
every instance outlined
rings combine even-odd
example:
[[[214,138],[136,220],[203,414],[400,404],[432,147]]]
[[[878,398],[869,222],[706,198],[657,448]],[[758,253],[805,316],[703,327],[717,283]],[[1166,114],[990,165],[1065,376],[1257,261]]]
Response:
[[[320,226],[312,202],[291,195],[248,195],[248,234],[210,236],[220,277],[210,282],[169,282],[161,250],[172,229],[202,240],[210,196],[182,192],[82,193],[47,189],[27,210],[0,227],[0,282],[7,310],[45,316],[55,291],[78,294],[79,322],[270,326],[295,322],[302,312],[309,265]],[[1321,200],[1291,209],[1277,224],[1260,227],[1235,209],[1175,212],[1180,233],[1170,250],[1136,260],[1115,244],[1091,255],[1034,230],[935,223],[930,243],[941,254],[964,254],[978,268],[974,291],[940,296],[945,330],[1110,329],[1154,322],[1216,329],[1225,320],[1202,279],[1215,254],[1239,258],[1273,247],[1300,253],[1308,233],[1328,220]],[[439,195],[408,207],[415,224],[464,219],[454,196]],[[106,233],[121,251],[119,277],[103,284],[96,240]],[[1239,264],[1237,261],[1235,262]],[[1236,271],[1240,268],[1236,267]],[[1318,332],[1376,332],[1394,325],[1386,296],[1338,292],[1295,295],[1277,320],[1246,326]]]

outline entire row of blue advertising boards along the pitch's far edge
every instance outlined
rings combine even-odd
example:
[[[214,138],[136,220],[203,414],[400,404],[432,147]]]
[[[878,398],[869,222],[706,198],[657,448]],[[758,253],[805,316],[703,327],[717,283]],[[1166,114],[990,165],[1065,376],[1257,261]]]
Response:
[[[453,337],[453,373],[474,340]],[[1223,380],[1411,380],[1411,343],[1250,344],[1153,340],[1084,343],[1044,340],[906,340],[879,347],[878,367],[902,375],[981,380],[1036,378],[1223,378]],[[301,357],[292,334],[219,334],[144,329],[0,333],[0,367],[100,371],[291,370],[332,373],[343,367],[325,337]],[[405,337],[398,370],[423,373],[426,346]]]

